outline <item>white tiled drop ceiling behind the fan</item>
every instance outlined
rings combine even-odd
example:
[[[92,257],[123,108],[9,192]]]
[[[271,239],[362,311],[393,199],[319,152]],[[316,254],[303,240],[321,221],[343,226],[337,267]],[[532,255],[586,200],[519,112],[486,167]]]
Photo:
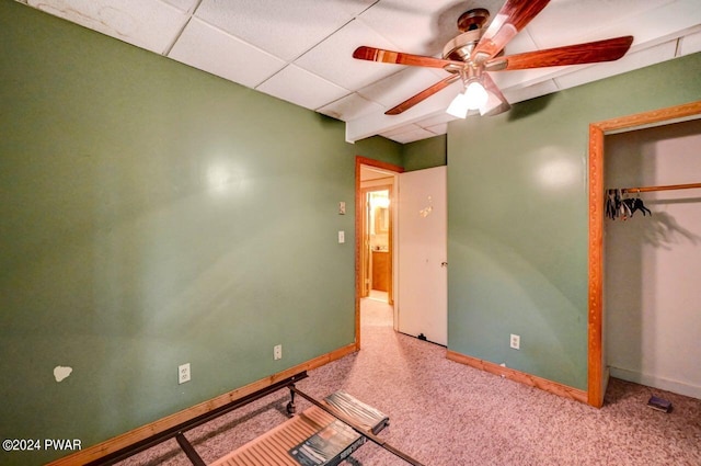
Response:
[[[447,133],[456,82],[384,111],[447,71],[352,57],[360,45],[440,56],[458,16],[504,0],[18,0],[137,47],[341,120],[346,140],[411,143]],[[552,0],[506,54],[633,35],[614,62],[492,72],[510,103],[701,50],[699,0]],[[479,116],[470,116],[479,117]]]

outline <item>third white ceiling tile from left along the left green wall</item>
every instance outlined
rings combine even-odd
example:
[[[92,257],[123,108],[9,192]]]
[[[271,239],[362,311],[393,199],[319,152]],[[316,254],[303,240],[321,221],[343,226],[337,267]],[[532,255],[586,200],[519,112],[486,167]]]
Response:
[[[350,92],[295,65],[287,66],[256,90],[310,110],[317,110]]]

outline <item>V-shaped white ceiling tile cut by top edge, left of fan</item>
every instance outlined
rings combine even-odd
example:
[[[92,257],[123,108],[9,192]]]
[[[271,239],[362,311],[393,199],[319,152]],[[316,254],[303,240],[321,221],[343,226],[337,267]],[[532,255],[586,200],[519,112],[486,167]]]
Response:
[[[204,0],[196,15],[290,61],[370,3],[371,0]]]

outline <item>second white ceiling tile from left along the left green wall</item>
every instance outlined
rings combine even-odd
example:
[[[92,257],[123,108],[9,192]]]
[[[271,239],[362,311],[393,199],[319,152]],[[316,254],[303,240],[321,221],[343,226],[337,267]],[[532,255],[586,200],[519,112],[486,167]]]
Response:
[[[169,57],[249,88],[255,88],[286,65],[197,19],[187,24]]]

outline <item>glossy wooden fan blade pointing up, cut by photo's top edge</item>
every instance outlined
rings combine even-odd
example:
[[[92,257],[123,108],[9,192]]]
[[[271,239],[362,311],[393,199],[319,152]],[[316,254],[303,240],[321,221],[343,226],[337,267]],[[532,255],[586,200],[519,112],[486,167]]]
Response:
[[[550,0],[506,0],[472,50],[472,61],[482,64],[496,56],[548,3]]]

